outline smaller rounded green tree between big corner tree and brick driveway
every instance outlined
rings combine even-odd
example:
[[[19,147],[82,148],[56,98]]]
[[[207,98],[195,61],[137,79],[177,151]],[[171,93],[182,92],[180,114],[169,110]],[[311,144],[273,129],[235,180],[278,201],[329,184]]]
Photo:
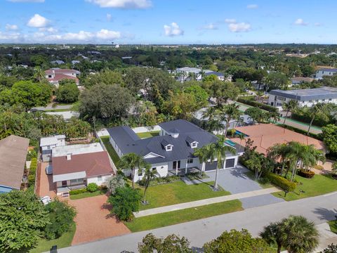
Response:
[[[76,215],[74,207],[55,198],[46,205],[46,211],[51,221],[44,228],[44,233],[48,240],[59,238],[63,233],[69,231]]]

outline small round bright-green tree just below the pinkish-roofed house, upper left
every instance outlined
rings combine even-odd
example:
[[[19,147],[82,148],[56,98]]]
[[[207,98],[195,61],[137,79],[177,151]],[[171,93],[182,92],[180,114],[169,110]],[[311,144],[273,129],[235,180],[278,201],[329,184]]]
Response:
[[[56,100],[62,103],[74,103],[79,99],[79,88],[74,80],[64,79],[55,92]]]

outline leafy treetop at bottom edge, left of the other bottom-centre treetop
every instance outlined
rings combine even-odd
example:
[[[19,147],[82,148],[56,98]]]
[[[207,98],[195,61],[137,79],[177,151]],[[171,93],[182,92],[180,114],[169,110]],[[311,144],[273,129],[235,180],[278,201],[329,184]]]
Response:
[[[178,235],[168,235],[166,238],[156,238],[148,233],[142,242],[138,243],[140,253],[192,253],[190,242],[187,238]]]

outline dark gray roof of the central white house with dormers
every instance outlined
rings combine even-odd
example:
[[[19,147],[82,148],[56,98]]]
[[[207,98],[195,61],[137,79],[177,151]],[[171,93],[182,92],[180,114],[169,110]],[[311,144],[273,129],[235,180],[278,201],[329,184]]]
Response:
[[[136,153],[145,156],[149,153],[154,153],[159,155],[160,157],[146,159],[147,162],[152,164],[194,157],[194,149],[187,143],[187,139],[197,141],[199,143],[198,148],[218,141],[218,138],[213,134],[183,119],[165,122],[159,125],[165,130],[176,128],[176,130],[179,131],[178,138],[173,138],[170,135],[154,136],[145,139],[131,138],[131,136],[134,137],[136,134],[128,126],[117,126],[107,129],[107,131],[123,154]],[[166,151],[163,143],[173,145],[172,150]]]

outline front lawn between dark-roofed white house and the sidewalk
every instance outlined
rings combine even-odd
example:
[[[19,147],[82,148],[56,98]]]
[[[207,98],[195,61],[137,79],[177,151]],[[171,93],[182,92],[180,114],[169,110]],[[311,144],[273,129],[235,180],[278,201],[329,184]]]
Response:
[[[213,182],[208,182],[188,186],[183,181],[177,181],[158,186],[150,186],[147,188],[146,193],[146,199],[149,205],[142,205],[140,209],[145,210],[194,200],[203,200],[210,197],[230,195],[230,193],[225,190],[213,191],[210,187],[212,185]],[[141,191],[143,195],[143,188],[141,188]]]

